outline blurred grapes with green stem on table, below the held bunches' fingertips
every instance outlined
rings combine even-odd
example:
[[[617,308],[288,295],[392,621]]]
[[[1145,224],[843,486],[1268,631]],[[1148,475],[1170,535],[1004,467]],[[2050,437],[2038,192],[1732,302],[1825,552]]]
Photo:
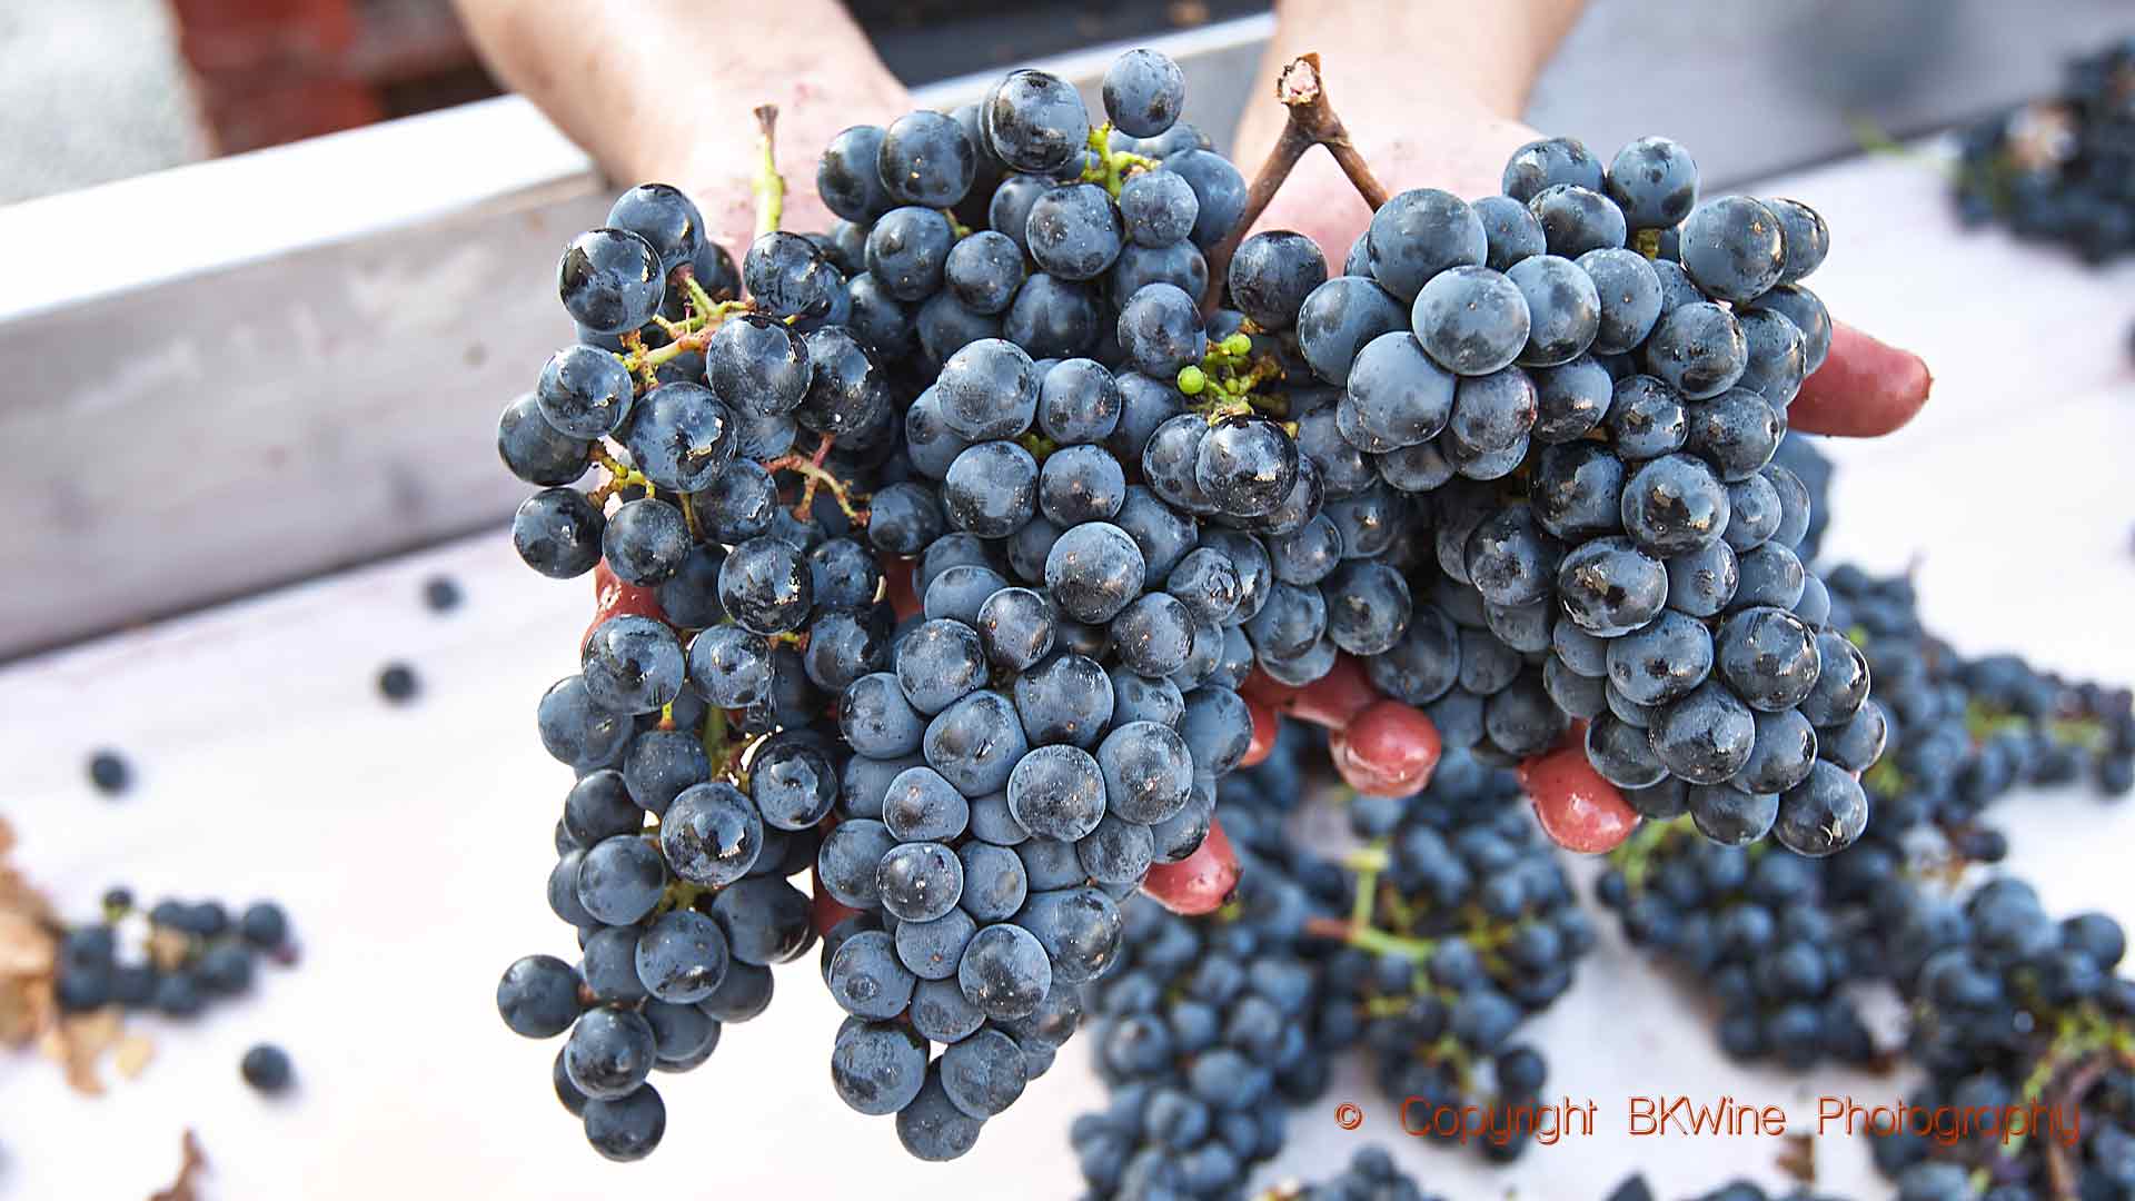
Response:
[[[1420,795],[1354,797],[1366,848],[1324,859],[1292,823],[1324,769],[1292,729],[1221,784],[1243,861],[1232,902],[1191,919],[1132,904],[1121,966],[1089,994],[1110,1088],[1070,1133],[1089,1197],[1243,1197],[1283,1145],[1285,1109],[1317,1098],[1351,1047],[1388,1096],[1539,1096],[1544,1058],[1514,1034],[1569,985],[1593,932],[1509,774],[1454,757]],[[1413,1188],[1371,1165],[1322,1188],[1366,1184]]]

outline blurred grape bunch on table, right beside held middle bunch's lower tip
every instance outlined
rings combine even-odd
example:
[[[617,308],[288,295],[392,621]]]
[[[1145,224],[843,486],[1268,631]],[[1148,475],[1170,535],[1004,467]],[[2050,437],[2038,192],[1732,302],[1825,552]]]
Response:
[[[1324,945],[1307,936],[1328,913],[1328,898],[1258,857],[1215,915],[1127,906],[1121,966],[1091,989],[1110,1103],[1070,1128],[1087,1197],[1240,1197],[1281,1152],[1287,1109],[1328,1083]]]

